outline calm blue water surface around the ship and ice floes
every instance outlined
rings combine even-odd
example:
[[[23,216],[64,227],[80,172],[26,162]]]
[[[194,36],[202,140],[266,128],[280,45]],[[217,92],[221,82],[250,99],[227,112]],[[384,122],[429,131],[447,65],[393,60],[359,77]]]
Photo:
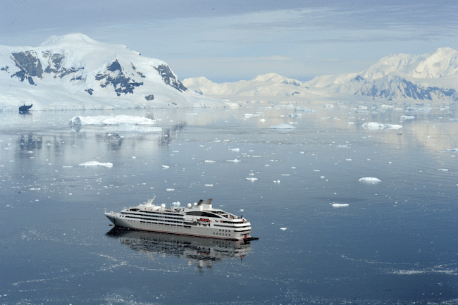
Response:
[[[159,119],[163,132],[68,125],[120,113]],[[400,123],[406,114],[416,118]],[[458,304],[457,116],[0,113],[0,304]],[[362,127],[371,121],[403,127]],[[280,123],[296,129],[268,128]],[[113,167],[78,166],[87,161]],[[154,196],[213,198],[259,240],[109,226],[105,210]]]

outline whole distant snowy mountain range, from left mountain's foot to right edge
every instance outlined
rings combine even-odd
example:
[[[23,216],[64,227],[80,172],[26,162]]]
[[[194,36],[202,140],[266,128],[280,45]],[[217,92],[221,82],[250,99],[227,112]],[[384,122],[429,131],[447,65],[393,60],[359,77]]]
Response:
[[[431,54],[397,54],[380,59],[360,73],[323,75],[299,82],[277,74],[215,84],[205,77],[183,84],[209,97],[237,102],[330,103],[347,99],[380,101],[458,101],[458,51],[440,48]]]

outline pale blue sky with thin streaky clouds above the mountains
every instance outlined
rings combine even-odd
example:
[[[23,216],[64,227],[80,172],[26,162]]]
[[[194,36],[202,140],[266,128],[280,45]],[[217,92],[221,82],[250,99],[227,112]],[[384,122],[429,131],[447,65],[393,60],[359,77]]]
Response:
[[[180,80],[305,81],[458,50],[458,0],[0,0],[0,45],[75,32],[166,61]]]

